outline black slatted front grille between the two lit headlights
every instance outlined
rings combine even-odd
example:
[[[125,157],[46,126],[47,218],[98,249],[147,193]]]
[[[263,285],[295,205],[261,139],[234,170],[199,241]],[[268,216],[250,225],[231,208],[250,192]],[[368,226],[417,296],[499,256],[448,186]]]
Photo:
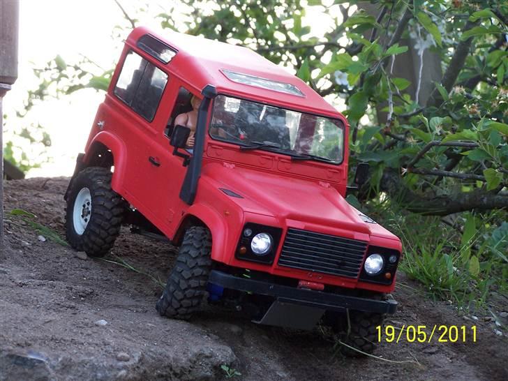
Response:
[[[333,235],[289,229],[280,266],[357,278],[367,243]]]

